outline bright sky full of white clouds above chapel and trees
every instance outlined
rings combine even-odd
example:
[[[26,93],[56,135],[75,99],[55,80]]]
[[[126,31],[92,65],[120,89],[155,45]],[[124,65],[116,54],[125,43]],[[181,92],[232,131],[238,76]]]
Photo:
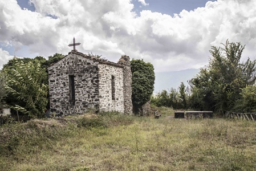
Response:
[[[255,0],[0,0],[0,68],[18,57],[79,52],[143,59],[155,72],[201,68],[211,46],[246,44],[256,58]]]

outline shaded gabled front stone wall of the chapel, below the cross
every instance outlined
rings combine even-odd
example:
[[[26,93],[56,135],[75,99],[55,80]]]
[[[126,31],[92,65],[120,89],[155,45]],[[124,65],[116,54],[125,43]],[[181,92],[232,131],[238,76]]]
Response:
[[[98,64],[97,60],[71,52],[48,68],[51,112],[70,115],[99,107]],[[69,75],[74,75],[75,105],[70,101]]]

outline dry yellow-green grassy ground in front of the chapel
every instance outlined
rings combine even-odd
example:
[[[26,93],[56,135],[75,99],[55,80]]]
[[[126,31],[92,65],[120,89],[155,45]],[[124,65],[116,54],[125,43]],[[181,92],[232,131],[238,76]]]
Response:
[[[255,170],[256,122],[119,113],[0,127],[0,170]]]

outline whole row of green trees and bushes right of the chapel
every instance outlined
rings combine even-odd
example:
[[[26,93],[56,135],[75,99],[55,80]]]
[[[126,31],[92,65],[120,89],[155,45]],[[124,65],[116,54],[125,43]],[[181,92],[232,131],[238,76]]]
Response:
[[[174,109],[200,111],[256,112],[256,61],[241,62],[245,46],[226,41],[210,50],[209,65],[178,90],[162,90],[152,96],[153,104]]]

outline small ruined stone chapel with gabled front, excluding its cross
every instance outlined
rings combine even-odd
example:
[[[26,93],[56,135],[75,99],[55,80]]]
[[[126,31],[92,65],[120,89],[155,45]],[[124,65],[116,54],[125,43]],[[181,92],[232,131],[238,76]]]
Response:
[[[56,115],[83,114],[88,109],[132,113],[129,56],[119,62],[72,50],[48,67],[50,110]]]

